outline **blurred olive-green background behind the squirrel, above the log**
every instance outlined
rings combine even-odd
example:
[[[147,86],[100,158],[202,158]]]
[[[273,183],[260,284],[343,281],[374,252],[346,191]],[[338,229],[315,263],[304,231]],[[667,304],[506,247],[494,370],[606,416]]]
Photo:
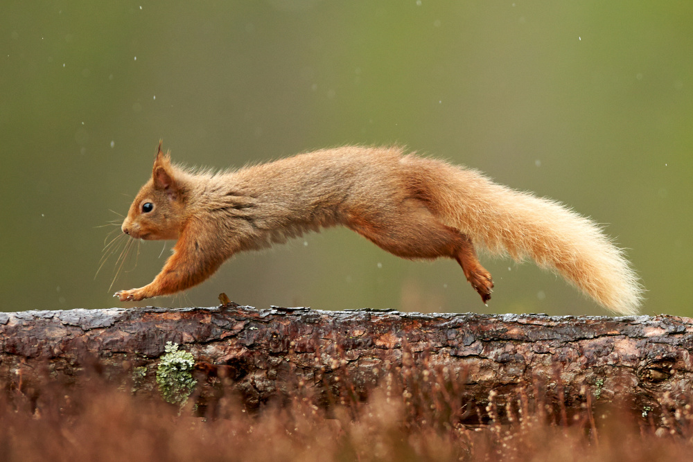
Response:
[[[226,168],[400,143],[607,224],[647,287],[692,316],[693,3],[35,1],[0,6],[0,311],[107,308],[159,272],[143,242],[109,289],[107,233],[175,161]],[[401,260],[346,229],[242,254],[137,305],[602,314],[534,265]]]

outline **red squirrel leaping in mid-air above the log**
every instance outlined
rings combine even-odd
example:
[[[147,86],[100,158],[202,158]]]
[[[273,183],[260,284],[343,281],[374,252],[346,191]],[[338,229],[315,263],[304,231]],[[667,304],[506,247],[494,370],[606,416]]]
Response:
[[[515,260],[529,256],[617,313],[635,314],[642,299],[624,252],[597,224],[475,170],[401,148],[344,146],[195,172],[171,163],[161,143],[122,230],[134,239],[177,242],[152,283],[114,296],[142,300],[186,290],[240,251],[336,225],[402,258],[457,260],[484,303],[493,279],[475,247]]]

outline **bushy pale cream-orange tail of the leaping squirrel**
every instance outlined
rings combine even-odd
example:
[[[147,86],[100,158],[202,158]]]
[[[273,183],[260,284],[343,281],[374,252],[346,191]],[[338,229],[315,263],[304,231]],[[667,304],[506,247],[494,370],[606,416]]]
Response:
[[[559,202],[493,183],[474,170],[406,156],[434,213],[491,254],[529,256],[609,310],[636,314],[643,288],[624,256],[588,218]],[[423,170],[423,177],[421,177]],[[412,178],[412,181],[418,183]]]

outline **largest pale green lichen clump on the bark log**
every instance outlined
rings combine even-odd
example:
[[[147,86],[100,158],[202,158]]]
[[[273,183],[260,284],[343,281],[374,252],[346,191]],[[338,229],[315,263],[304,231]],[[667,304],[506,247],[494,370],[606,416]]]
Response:
[[[195,358],[188,351],[178,350],[178,344],[170,341],[165,349],[157,368],[159,392],[166,402],[182,407],[198,383],[192,374]]]

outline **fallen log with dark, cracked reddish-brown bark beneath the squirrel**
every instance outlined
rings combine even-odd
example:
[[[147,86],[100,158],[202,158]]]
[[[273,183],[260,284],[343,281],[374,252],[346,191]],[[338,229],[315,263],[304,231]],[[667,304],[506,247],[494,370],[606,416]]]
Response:
[[[443,374],[477,407],[493,391],[499,401],[518,393],[554,396],[567,409],[621,398],[634,409],[658,409],[685,402],[693,378],[693,319],[682,317],[256,310],[228,303],[0,313],[0,380],[6,390],[37,393],[46,380],[78,382],[80,371],[98,364],[133,391],[156,393],[167,341],[195,357],[198,402],[232,391],[249,408],[295,396],[297,388],[326,403],[365,398],[388,376],[420,381],[427,370]]]

